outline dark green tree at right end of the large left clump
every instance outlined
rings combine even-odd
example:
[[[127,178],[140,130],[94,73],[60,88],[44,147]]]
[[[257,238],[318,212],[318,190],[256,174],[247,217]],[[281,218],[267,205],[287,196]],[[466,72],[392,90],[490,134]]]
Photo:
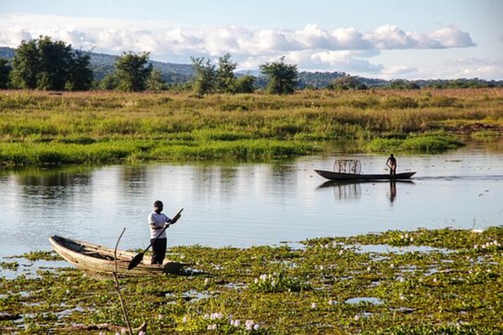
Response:
[[[73,50],[68,67],[66,89],[87,91],[92,87],[93,74],[90,68],[91,56],[81,50]]]

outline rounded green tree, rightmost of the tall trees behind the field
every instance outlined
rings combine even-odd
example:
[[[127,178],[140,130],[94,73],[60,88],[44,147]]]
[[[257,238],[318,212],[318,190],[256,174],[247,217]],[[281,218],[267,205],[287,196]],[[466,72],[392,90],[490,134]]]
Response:
[[[292,94],[297,87],[297,65],[285,64],[285,56],[280,61],[260,65],[263,75],[268,77],[266,90],[271,94]]]

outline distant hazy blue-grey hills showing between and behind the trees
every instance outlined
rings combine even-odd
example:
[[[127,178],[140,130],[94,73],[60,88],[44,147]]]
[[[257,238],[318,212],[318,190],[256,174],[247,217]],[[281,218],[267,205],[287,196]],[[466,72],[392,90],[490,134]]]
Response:
[[[15,49],[0,46],[0,57],[11,59],[14,57]],[[91,52],[91,68],[94,72],[94,79],[101,80],[105,75],[113,71],[113,63],[118,56],[108,55],[106,53]],[[161,71],[163,79],[168,84],[183,84],[192,80],[194,77],[194,68],[190,64],[176,64],[159,61],[151,61],[154,68]],[[260,70],[242,70],[237,71],[237,77],[242,75],[253,75],[256,77],[255,86],[265,87],[266,77],[261,76]],[[347,75],[344,72],[299,72],[299,88],[306,87],[321,88],[326,87],[338,77]],[[358,77],[367,87],[386,87],[392,80],[383,80],[377,78]],[[479,80],[475,79],[457,79],[457,80],[411,80],[418,87],[503,87],[503,80]]]

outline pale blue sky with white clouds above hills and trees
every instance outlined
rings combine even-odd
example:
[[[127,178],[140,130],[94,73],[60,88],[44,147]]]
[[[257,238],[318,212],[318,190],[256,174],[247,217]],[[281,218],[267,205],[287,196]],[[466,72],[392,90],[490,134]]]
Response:
[[[503,80],[502,17],[503,0],[0,0],[0,46],[48,35],[171,63],[230,53],[238,70],[285,56],[307,71]]]

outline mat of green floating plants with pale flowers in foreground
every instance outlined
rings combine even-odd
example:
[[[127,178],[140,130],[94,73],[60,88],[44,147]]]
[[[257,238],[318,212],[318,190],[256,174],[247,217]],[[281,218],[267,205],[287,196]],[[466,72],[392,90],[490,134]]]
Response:
[[[503,227],[390,231],[293,248],[170,248],[187,272],[120,279],[147,334],[502,334]],[[35,257],[37,256],[37,257]],[[125,327],[111,276],[32,253],[1,260],[0,332],[98,334]],[[111,331],[109,334],[115,334]]]

